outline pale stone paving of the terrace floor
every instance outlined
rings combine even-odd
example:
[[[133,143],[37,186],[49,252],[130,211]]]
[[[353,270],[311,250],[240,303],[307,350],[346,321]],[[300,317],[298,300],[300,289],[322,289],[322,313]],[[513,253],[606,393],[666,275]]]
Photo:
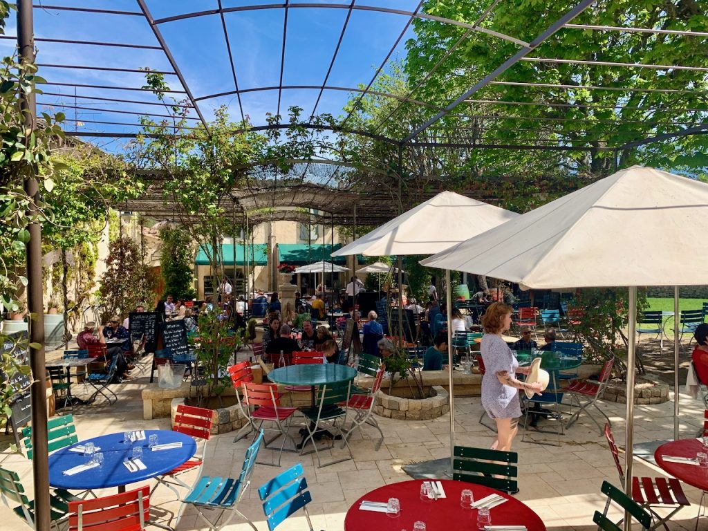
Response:
[[[130,382],[115,386],[120,397],[118,404],[108,406],[105,402],[76,408],[73,411],[79,439],[89,438],[104,433],[113,433],[130,428],[169,429],[169,419],[142,420],[142,402],[140,392],[147,383],[147,377],[139,377]],[[79,393],[81,387],[78,388]],[[673,394],[672,394],[673,396]],[[703,404],[700,399],[692,399],[687,394],[680,395],[682,417],[680,434],[682,437],[695,436],[703,422]],[[612,420],[612,430],[620,446],[624,441],[624,405],[603,404],[604,411]],[[493,433],[479,424],[481,405],[479,397],[455,399],[455,441],[459,445],[489,447]],[[365,430],[363,435],[356,433],[352,437],[354,459],[329,467],[317,468],[313,455],[300,457],[296,453],[285,452],[282,466],[271,467],[256,465],[252,486],[259,486],[264,481],[292,466],[302,462],[305,476],[310,485],[313,502],[309,505],[316,530],[341,531],[349,506],[367,491],[384,484],[406,481],[409,476],[401,467],[412,462],[446,457],[450,450],[450,418],[442,416],[428,421],[404,421],[391,418],[379,418],[379,425],[384,431],[382,447],[375,451],[372,438],[375,430]],[[639,405],[635,408],[635,442],[668,439],[673,437],[673,403]],[[548,441],[554,435],[530,433],[532,438]],[[233,442],[234,435],[225,433],[215,435],[207,446],[207,461],[204,474],[238,474],[248,440]],[[21,455],[12,454],[4,442],[4,452],[0,454],[0,466],[16,470],[21,474],[25,488],[31,489],[31,464]],[[602,510],[605,498],[600,495],[600,484],[604,479],[619,484],[617,469],[607,449],[605,438],[600,435],[595,424],[586,417],[573,425],[561,438],[561,446],[539,445],[521,442],[521,433],[514,443],[513,450],[519,454],[519,488],[516,496],[544,520],[547,528],[553,531],[595,530],[592,523],[593,512]],[[326,450],[328,455],[340,455],[342,450],[336,447]],[[259,459],[271,457],[270,450],[261,449]],[[636,459],[634,474],[661,474],[661,470]],[[194,476],[196,479],[196,476]],[[684,486],[692,506],[685,508],[670,523],[671,530],[694,529],[697,504],[700,491]],[[105,493],[110,493],[105,491]],[[168,489],[158,489],[152,499],[154,515],[157,519],[170,518],[179,508],[176,496]],[[267,530],[263,512],[258,502],[255,488],[249,489],[240,510],[249,516],[259,530]],[[617,515],[617,513],[614,513]],[[27,527],[6,506],[0,505],[0,525],[2,530],[22,530]],[[617,517],[619,518],[619,516]],[[174,522],[172,522],[174,524]],[[178,530],[202,530],[207,527],[193,508],[186,508]],[[232,523],[224,530],[250,530],[251,527],[234,516]],[[302,511],[293,515],[279,530],[306,530],[307,523]],[[428,527],[430,531],[438,531]],[[708,529],[708,519],[703,518],[699,529]],[[373,530],[373,527],[372,527]]]

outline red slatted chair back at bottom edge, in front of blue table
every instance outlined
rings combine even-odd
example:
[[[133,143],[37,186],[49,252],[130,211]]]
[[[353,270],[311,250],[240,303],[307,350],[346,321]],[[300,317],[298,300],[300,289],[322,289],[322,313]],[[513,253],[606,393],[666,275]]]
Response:
[[[69,502],[69,531],[138,531],[150,518],[150,487]]]

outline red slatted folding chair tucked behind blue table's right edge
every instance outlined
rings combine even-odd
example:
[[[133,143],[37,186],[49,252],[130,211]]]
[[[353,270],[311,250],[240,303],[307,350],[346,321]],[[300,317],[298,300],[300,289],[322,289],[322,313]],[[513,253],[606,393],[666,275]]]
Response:
[[[189,489],[190,486],[179,479],[178,476],[185,474],[185,472],[190,472],[191,470],[197,470],[198,473],[201,474],[205,461],[207,440],[209,440],[212,435],[212,413],[211,409],[195,408],[193,406],[185,406],[184,404],[177,406],[177,413],[172,430],[189,435],[195,438],[198,443],[203,441],[203,444],[201,449],[198,448],[195,455],[188,461],[171,469],[169,472],[156,476],[155,479],[157,483],[152,488],[152,491],[150,491],[151,494],[158,485],[162,484],[176,493],[177,496],[180,496],[177,487],[182,486]]]

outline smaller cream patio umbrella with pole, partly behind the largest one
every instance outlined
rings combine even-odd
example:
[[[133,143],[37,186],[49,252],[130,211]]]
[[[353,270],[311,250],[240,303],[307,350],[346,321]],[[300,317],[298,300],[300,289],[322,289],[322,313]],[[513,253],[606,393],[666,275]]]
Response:
[[[398,256],[399,285],[401,284],[401,256],[432,254],[447,249],[472,236],[518,217],[486,202],[467,198],[455,192],[440,192],[404,212],[378,229],[341,247],[332,256],[364,254],[367,256]],[[447,282],[447,315],[452,314],[452,286],[450,270],[445,271]],[[400,294],[400,290],[399,290]],[[403,324],[399,295],[399,324]],[[452,326],[447,327],[447,362],[450,366],[450,472],[455,447],[455,392],[452,382]]]

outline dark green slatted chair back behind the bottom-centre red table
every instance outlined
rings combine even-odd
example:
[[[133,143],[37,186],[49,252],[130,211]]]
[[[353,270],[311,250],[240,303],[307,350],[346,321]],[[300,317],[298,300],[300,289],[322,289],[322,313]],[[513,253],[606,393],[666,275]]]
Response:
[[[516,482],[518,462],[519,457],[516,452],[455,446],[452,479],[489,486],[513,494],[518,492]]]

